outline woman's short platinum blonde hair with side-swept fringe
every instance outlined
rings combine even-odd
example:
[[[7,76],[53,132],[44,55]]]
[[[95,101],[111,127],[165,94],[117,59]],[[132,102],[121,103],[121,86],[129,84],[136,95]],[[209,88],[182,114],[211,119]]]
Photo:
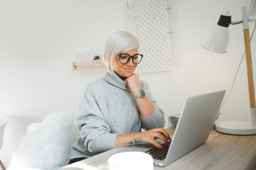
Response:
[[[105,45],[103,61],[112,69],[114,57],[129,50],[139,50],[139,40],[127,31],[121,30],[110,35]]]

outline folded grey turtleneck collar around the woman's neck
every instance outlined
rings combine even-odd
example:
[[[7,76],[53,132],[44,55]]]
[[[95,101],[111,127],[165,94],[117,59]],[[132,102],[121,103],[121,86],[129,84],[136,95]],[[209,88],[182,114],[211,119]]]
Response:
[[[128,90],[127,84],[125,83],[125,80],[122,80],[113,70],[109,67],[107,70],[107,73],[103,77],[105,81],[107,81],[109,84],[112,84],[113,86],[116,86],[119,89]]]

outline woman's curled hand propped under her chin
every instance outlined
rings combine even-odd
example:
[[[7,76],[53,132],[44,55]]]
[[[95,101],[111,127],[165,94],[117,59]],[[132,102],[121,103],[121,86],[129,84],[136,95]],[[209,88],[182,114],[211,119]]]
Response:
[[[134,96],[136,96],[137,94],[139,94],[139,90],[140,90],[140,86],[139,86],[139,74],[132,74],[131,77],[128,77],[125,80],[128,89],[130,89],[130,91],[132,91],[132,94],[134,94]]]

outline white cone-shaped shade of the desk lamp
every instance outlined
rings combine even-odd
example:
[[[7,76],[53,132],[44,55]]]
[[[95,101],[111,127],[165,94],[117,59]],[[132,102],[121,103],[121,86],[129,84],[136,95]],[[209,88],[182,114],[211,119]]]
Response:
[[[212,52],[225,53],[227,52],[228,41],[228,28],[216,25],[213,33],[206,38],[202,46]]]

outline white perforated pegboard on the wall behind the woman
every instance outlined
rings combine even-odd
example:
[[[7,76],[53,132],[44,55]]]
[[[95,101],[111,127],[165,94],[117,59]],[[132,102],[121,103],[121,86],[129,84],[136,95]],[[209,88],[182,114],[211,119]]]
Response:
[[[137,36],[144,55],[137,73],[163,72],[171,69],[171,40],[166,0],[127,3],[130,33]]]

